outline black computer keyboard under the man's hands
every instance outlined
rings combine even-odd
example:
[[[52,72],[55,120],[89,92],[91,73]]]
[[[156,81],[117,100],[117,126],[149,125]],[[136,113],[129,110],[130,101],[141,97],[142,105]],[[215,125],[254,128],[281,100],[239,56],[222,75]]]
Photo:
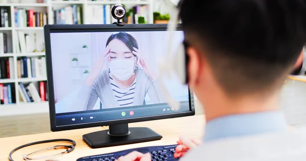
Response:
[[[117,151],[107,154],[99,154],[92,156],[85,156],[77,159],[77,161],[114,161],[120,156],[129,154],[132,151],[139,151],[141,153],[150,153],[152,161],[167,161],[167,160],[179,160],[179,158],[174,158],[175,148],[177,145],[166,145],[166,146],[151,146],[151,147],[141,147],[135,149],[127,149],[122,151]]]

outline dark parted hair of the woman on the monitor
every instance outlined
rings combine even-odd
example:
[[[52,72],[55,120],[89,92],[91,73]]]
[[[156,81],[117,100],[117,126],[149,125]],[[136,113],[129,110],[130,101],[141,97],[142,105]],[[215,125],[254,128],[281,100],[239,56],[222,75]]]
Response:
[[[127,33],[124,33],[124,32],[113,34],[107,40],[106,46],[114,39],[118,39],[118,40],[122,41],[127,46],[127,48],[129,48],[131,51],[135,51],[133,47],[138,49],[138,43],[137,43],[136,39],[130,34],[127,34]],[[134,55],[134,56],[136,57],[136,55]]]

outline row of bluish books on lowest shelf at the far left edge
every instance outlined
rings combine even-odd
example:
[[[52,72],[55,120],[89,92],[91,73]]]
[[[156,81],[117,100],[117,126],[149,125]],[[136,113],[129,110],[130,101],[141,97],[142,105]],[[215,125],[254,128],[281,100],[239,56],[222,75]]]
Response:
[[[16,103],[15,86],[13,84],[0,84],[0,104]]]

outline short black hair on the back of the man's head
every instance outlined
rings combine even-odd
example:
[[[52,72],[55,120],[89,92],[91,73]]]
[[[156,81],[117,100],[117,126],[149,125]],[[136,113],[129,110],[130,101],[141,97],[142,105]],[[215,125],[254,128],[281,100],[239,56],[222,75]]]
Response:
[[[305,0],[181,0],[185,39],[231,94],[279,86],[306,42]]]

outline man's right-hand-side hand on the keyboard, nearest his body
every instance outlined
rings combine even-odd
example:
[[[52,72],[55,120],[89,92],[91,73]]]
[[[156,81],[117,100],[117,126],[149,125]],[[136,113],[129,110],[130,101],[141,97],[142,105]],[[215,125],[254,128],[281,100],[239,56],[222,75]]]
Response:
[[[175,153],[173,155],[176,158],[184,156],[188,150],[197,147],[200,142],[197,140],[180,137],[180,140],[177,141],[177,144],[179,145],[175,148]]]

